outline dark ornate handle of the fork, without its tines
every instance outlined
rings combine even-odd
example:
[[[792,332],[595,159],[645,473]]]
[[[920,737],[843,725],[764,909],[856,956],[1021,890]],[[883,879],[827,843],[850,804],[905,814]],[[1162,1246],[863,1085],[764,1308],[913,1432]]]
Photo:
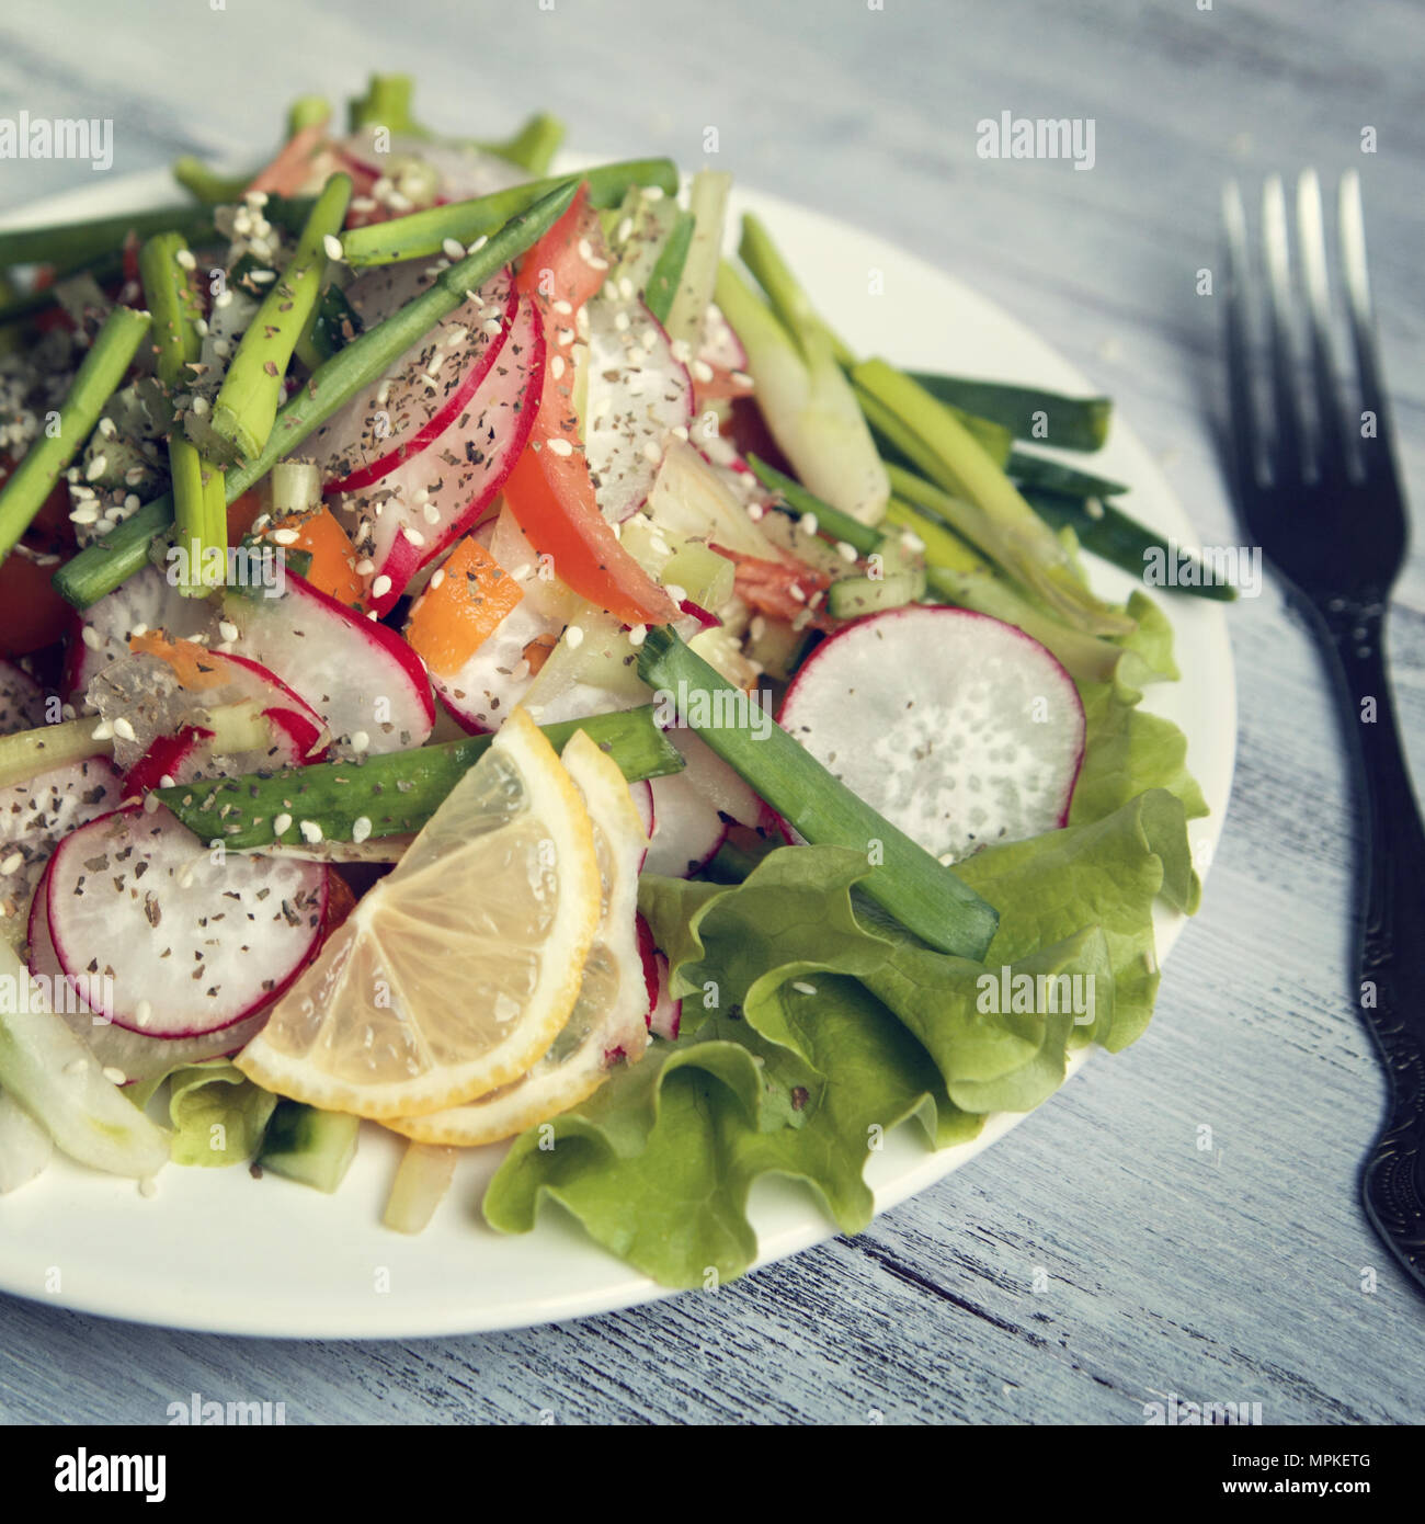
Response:
[[[1425,1279],[1425,826],[1390,695],[1384,593],[1335,599],[1318,613],[1349,706],[1364,806],[1358,1007],[1390,1090],[1361,1189],[1376,1231]]]

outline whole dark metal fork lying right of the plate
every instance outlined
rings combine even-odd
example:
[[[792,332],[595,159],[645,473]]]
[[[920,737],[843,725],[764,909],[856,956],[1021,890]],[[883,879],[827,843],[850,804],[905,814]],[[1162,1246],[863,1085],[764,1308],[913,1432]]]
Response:
[[[1376,355],[1359,180],[1343,177],[1338,207],[1353,407],[1344,401],[1331,337],[1315,172],[1306,171],[1297,186],[1309,372],[1299,344],[1299,280],[1280,178],[1266,181],[1262,198],[1270,375],[1253,369],[1253,282],[1236,184],[1227,187],[1224,218],[1227,402],[1238,500],[1253,539],[1311,611],[1331,652],[1366,824],[1356,1006],[1379,1049],[1390,1093],[1385,1122],[1363,1164],[1361,1195],[1376,1233],[1425,1291],[1425,829],[1385,661],[1385,611],[1405,559],[1407,509]],[[1259,407],[1259,390],[1270,392],[1270,410]]]

